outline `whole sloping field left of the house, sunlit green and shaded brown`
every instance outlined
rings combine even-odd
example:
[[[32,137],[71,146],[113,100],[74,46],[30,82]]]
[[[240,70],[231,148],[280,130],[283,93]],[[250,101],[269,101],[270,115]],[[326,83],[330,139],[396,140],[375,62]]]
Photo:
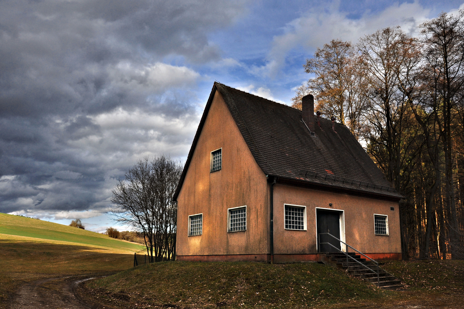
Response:
[[[8,308],[19,286],[40,278],[132,267],[142,246],[125,240],[0,213],[0,308]]]

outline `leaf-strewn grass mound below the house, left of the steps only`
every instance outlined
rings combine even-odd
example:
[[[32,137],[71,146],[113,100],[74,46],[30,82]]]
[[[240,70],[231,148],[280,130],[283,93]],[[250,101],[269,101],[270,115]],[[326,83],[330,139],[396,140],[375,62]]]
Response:
[[[87,288],[116,308],[311,308],[391,293],[317,263],[163,262],[89,282]]]

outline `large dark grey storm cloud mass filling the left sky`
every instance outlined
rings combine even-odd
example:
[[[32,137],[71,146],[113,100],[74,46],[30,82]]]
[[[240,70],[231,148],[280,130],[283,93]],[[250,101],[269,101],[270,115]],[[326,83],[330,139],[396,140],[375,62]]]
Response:
[[[106,209],[137,158],[185,155],[200,78],[188,63],[220,59],[207,34],[242,6],[1,1],[0,212]]]

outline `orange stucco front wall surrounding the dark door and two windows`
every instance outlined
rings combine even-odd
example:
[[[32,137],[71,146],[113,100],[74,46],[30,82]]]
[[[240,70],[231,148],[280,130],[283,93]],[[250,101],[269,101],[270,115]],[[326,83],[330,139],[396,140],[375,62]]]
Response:
[[[306,231],[284,229],[284,203],[306,206]],[[344,210],[345,242],[361,252],[401,252],[398,202],[277,184],[274,187],[275,254],[317,252],[316,208]],[[375,235],[374,214],[388,215],[388,236]]]

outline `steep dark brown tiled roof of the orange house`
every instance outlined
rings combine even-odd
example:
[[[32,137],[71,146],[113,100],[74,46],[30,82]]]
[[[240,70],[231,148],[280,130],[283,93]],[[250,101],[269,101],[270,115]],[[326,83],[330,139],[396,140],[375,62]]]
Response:
[[[346,126],[335,123],[336,132],[333,132],[331,121],[321,117],[321,127],[315,123],[315,134],[311,135],[303,123],[302,112],[296,108],[219,82],[214,83],[208,104],[216,89],[266,175],[318,187],[340,188],[345,192],[401,197]],[[316,116],[314,119],[316,122]],[[199,133],[197,131],[197,135]],[[193,149],[194,145],[189,157]],[[187,158],[186,169],[188,163]]]

